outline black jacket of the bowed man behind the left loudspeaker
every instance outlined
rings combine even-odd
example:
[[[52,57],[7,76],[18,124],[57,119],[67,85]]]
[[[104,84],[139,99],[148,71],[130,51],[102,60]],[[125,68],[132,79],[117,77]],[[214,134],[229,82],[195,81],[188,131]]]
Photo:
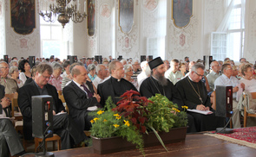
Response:
[[[56,87],[53,85],[45,85],[49,96],[53,97],[53,110],[56,111],[56,114],[64,109],[62,101],[58,97]],[[27,85],[24,85],[18,91],[18,105],[23,114],[23,131],[25,139],[32,139],[32,96],[39,96],[40,92],[37,89],[35,81],[30,82]]]

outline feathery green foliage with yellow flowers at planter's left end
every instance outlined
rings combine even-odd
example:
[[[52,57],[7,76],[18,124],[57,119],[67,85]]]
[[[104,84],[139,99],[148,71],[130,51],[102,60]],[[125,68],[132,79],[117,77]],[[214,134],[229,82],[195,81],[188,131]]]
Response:
[[[112,110],[113,107],[115,104],[113,104],[111,97],[108,97],[105,111],[99,109],[93,112],[92,116],[95,118],[91,121],[91,135],[98,138],[121,136],[136,144],[136,148],[139,148],[144,154],[142,135],[139,130],[136,129],[135,125],[131,125],[131,121],[127,117]]]

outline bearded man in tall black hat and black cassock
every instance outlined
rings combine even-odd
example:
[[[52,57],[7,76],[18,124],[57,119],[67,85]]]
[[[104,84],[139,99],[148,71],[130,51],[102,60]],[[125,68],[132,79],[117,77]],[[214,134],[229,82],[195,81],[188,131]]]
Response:
[[[140,87],[141,96],[152,97],[155,96],[156,93],[159,93],[167,97],[174,104],[178,104],[179,110],[182,110],[181,106],[183,105],[183,102],[179,92],[174,84],[164,77],[166,68],[161,58],[157,57],[154,60],[149,61],[148,65],[151,68],[151,76],[142,82]],[[187,132],[195,132],[193,116],[187,114],[187,120]]]

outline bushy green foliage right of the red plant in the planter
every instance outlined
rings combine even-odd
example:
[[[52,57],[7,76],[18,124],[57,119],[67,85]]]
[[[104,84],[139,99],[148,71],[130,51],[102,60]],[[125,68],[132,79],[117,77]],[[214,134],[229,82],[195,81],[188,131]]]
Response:
[[[187,126],[187,114],[178,110],[177,104],[169,101],[167,97],[161,94],[155,94],[154,97],[148,98],[154,103],[149,103],[148,125],[157,131],[169,132],[171,128]]]

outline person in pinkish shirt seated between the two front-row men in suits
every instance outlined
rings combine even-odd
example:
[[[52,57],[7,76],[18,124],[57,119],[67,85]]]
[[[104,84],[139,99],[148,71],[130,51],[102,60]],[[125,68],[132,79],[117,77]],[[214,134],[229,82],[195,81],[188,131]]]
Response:
[[[53,62],[53,72],[49,78],[49,85],[56,87],[57,91],[62,91],[62,65],[58,62]]]

